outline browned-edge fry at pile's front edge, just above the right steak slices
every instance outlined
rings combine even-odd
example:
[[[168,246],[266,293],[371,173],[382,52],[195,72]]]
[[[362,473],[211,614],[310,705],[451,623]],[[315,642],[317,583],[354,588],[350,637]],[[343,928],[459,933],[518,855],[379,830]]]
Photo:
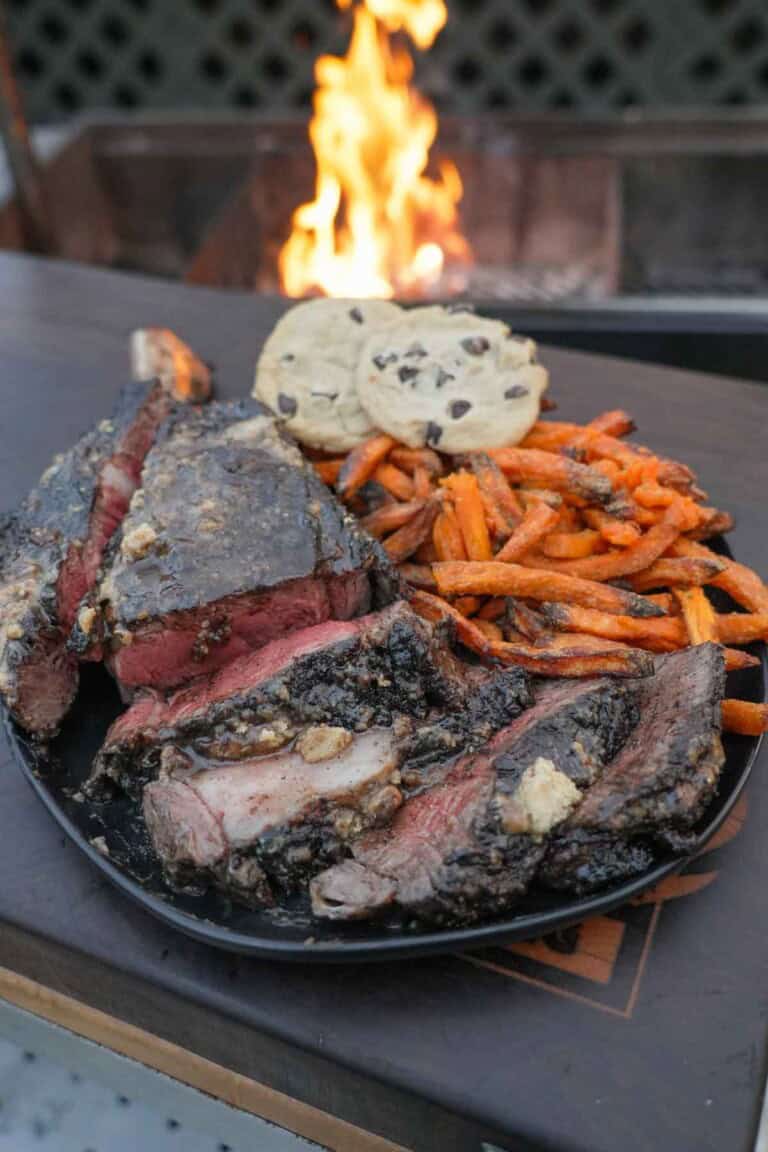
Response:
[[[595,636],[553,636],[546,645],[489,642],[489,654],[539,676],[649,676],[653,657]]]

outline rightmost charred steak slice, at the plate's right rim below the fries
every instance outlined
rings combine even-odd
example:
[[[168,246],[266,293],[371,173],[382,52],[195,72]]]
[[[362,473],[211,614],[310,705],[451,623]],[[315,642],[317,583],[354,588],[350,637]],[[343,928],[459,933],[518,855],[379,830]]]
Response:
[[[641,719],[547,852],[542,880],[588,892],[645,871],[659,848],[684,850],[724,761],[722,649],[701,644],[656,659],[640,683]]]

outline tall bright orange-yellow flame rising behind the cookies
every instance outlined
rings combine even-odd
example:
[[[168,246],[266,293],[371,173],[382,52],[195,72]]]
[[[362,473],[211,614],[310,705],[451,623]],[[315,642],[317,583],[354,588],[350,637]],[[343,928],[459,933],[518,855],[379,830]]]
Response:
[[[410,85],[410,54],[389,43],[389,32],[405,31],[426,48],[446,18],[443,0],[364,0],[347,56],[318,60],[315,196],[294,213],[280,252],[289,296],[418,295],[448,262],[470,258],[461,176],[450,164],[426,175],[438,116]]]

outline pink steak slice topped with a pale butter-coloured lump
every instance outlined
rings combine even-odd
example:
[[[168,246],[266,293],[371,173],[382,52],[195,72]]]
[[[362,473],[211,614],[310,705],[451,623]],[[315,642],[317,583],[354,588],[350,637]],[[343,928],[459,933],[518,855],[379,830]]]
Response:
[[[352,843],[353,862],[318,876],[315,915],[357,919],[393,902],[436,924],[500,914],[527,890],[552,828],[637,718],[626,682],[547,685],[479,752],[432,766],[391,827]]]

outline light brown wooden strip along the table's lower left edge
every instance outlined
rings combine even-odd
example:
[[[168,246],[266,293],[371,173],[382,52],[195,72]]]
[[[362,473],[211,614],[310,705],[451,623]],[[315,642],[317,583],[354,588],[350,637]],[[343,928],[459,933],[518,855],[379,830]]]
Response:
[[[0,967],[0,999],[332,1152],[408,1152],[401,1144],[366,1132],[9,968]]]

